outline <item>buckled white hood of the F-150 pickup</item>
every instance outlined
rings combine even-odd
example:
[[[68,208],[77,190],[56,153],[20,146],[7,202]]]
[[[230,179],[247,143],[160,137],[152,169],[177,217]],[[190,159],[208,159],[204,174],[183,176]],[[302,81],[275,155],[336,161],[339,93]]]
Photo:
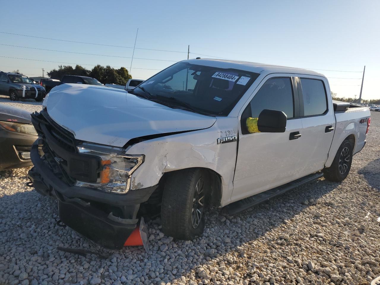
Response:
[[[211,127],[216,119],[103,86],[62,84],[47,94],[49,116],[76,139],[122,147],[130,139]]]

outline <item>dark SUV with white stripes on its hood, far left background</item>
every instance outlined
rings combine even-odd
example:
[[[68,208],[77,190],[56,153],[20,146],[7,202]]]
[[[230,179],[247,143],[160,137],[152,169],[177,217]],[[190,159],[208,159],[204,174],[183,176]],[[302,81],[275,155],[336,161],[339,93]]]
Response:
[[[34,99],[40,102],[45,98],[46,91],[21,73],[0,71],[0,94],[9,96],[12,101]]]

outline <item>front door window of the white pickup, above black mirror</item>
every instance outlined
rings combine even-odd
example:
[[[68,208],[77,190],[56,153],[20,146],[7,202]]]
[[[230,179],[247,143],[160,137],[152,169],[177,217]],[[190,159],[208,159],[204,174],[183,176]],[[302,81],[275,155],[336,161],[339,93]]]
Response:
[[[288,119],[294,117],[293,88],[290,78],[268,79],[251,101],[252,117],[264,109],[283,111]]]

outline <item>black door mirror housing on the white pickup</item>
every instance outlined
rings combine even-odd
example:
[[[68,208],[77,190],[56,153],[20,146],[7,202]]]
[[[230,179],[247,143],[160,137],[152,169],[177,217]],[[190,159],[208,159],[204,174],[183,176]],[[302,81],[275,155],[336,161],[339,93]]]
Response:
[[[264,109],[261,111],[257,127],[262,133],[283,133],[286,129],[287,116],[282,111]]]

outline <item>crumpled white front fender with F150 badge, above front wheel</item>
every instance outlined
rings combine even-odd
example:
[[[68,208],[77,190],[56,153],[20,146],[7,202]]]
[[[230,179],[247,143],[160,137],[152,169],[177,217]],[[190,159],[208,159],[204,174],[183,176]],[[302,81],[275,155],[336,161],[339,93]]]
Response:
[[[237,133],[237,124],[231,127],[232,119],[236,120],[225,117],[205,130],[142,141],[128,148],[130,155],[145,155],[144,163],[132,174],[131,190],[157,185],[163,174],[170,171],[207,168],[220,175],[221,204],[228,204],[233,188],[237,141],[217,144],[217,139],[224,134]]]

